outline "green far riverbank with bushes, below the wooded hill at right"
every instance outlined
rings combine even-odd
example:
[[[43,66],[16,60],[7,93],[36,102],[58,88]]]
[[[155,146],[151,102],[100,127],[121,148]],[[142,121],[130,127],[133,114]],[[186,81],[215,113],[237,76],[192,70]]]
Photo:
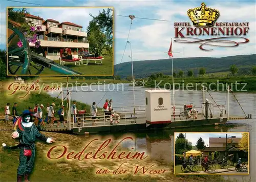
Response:
[[[174,78],[175,89],[179,90],[201,90],[202,86],[211,91],[226,92],[227,85],[233,92],[256,93],[256,77],[184,77]],[[161,78],[139,79],[136,86],[148,88],[173,88],[172,77],[163,76]]]

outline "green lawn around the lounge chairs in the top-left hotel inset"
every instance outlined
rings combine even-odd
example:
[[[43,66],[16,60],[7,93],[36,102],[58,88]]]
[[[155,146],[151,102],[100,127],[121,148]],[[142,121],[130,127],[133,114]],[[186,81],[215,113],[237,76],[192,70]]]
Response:
[[[56,63],[59,64],[58,60],[54,60]],[[104,58],[102,61],[102,65],[89,63],[88,65],[75,65],[75,64],[65,64],[65,66],[69,67],[70,69],[81,73],[82,75],[113,75],[113,58]],[[12,70],[16,67],[13,66]],[[21,69],[20,69],[21,70]],[[35,69],[32,67],[31,73],[35,74]],[[16,73],[19,75],[20,73]],[[45,67],[45,69],[40,73],[40,75],[64,75],[58,72],[52,71],[49,68]]]

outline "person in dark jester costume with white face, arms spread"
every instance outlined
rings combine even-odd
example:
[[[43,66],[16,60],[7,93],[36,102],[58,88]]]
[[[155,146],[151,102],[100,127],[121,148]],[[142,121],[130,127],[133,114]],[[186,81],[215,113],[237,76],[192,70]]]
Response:
[[[17,146],[8,147],[6,144],[2,144],[5,149],[20,149],[19,151],[19,166],[17,169],[17,182],[23,180],[29,181],[28,177],[31,173],[34,160],[35,160],[35,141],[39,138],[47,143],[55,142],[51,138],[47,138],[45,135],[41,134],[36,126],[32,122],[31,112],[29,110],[24,110],[21,117],[19,117],[14,124],[15,131],[12,133],[13,139],[18,139],[19,144]]]

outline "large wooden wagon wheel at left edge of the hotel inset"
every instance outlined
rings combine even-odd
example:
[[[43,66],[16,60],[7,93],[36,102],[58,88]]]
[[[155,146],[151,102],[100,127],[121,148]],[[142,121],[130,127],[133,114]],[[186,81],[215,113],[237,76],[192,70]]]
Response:
[[[8,20],[8,71],[11,75],[16,75],[21,69],[20,74],[26,75],[28,73],[31,54],[29,43],[26,40],[23,32]],[[21,40],[23,46],[20,48],[17,42]]]

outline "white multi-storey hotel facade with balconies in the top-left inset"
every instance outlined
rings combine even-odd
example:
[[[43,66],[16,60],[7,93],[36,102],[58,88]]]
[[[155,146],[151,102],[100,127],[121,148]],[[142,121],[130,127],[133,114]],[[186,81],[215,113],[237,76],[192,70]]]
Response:
[[[51,60],[59,59],[59,51],[65,47],[70,48],[76,58],[81,47],[89,50],[87,32],[82,31],[82,26],[68,21],[44,20],[44,18],[31,14],[26,14],[26,20],[35,26],[41,26],[41,30],[37,31],[37,39],[40,40],[40,45],[44,49],[46,57]],[[31,43],[30,45],[34,46]]]

